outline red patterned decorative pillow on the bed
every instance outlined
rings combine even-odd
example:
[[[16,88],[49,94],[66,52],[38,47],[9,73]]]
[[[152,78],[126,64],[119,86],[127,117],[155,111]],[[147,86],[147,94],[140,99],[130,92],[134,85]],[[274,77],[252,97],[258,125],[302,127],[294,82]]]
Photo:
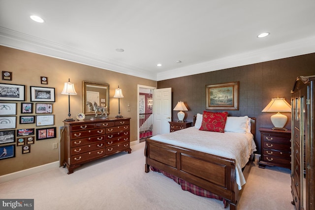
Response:
[[[227,119],[226,111],[223,112],[203,111],[202,123],[199,130],[224,133],[226,119]]]

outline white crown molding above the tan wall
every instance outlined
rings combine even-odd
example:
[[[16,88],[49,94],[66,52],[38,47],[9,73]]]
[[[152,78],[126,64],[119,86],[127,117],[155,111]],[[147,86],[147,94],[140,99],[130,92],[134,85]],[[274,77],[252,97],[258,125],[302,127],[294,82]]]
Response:
[[[157,79],[155,73],[3,27],[0,27],[0,37],[0,45],[3,46],[141,78]]]

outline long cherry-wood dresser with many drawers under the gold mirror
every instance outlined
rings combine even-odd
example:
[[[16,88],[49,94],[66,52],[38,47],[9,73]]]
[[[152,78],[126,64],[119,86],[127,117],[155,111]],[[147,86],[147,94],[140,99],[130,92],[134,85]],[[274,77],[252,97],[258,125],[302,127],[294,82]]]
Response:
[[[131,153],[130,118],[63,122],[63,165],[68,174],[82,164],[119,152]]]

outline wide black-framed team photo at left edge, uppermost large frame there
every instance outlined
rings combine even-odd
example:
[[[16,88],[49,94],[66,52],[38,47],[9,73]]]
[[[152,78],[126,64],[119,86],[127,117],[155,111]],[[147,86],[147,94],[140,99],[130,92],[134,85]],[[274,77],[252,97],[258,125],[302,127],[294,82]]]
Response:
[[[0,101],[25,101],[25,85],[0,83]]]

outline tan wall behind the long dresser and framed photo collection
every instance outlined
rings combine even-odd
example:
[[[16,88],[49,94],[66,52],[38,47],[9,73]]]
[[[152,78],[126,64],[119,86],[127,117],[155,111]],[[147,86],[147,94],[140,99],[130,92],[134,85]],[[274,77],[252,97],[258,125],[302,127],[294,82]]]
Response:
[[[64,61],[56,58],[42,56],[26,51],[16,50],[0,46],[0,70],[12,72],[12,81],[1,80],[0,83],[25,85],[26,101],[30,102],[30,86],[53,87],[56,93],[56,102],[53,104],[53,114],[55,115],[55,125],[57,127],[57,138],[49,140],[35,141],[31,145],[31,153],[22,154],[22,147],[16,146],[14,158],[0,160],[0,175],[5,175],[32,167],[52,163],[59,160],[59,149],[53,149],[53,143],[60,141],[59,127],[63,126],[63,120],[68,114],[68,97],[62,95],[64,82],[68,78],[74,83],[78,95],[70,96],[71,117],[75,118],[76,114],[83,111],[82,107],[82,81],[92,81],[98,83],[108,83],[110,85],[110,114],[109,117],[115,117],[118,114],[118,99],[114,99],[115,88],[123,90],[125,98],[120,100],[120,111],[125,117],[131,117],[131,141],[137,140],[137,85],[157,86],[157,81],[143,79],[140,77],[130,76],[117,73],[110,70],[102,70],[82,64]],[[40,76],[48,77],[48,85],[40,83]],[[10,102],[10,101],[1,101]],[[39,128],[35,124],[19,124],[21,115],[21,102],[17,103],[17,127]],[[33,102],[35,105],[36,102]],[[127,112],[127,105],[130,104],[130,112]],[[34,107],[33,114],[35,115]],[[88,116],[88,117],[91,117]],[[53,126],[45,126],[53,127]],[[16,144],[16,142],[15,142]],[[3,146],[6,144],[0,144]]]

